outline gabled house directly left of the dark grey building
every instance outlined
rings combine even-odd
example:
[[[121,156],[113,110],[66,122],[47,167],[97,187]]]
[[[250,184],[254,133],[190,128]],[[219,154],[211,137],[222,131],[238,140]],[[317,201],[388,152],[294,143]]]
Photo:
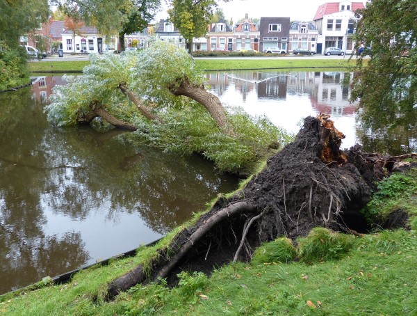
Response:
[[[231,48],[229,43],[229,51],[238,51],[241,48],[259,51],[259,31],[256,30],[256,25],[250,21],[247,13],[243,22],[236,24],[236,29],[234,29],[234,39],[236,40],[236,45]]]

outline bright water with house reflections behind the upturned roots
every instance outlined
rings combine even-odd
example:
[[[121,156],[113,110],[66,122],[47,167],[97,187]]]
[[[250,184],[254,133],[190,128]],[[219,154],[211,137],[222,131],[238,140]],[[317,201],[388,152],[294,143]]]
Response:
[[[370,152],[391,155],[416,152],[416,129],[399,127],[379,133],[363,129],[355,114],[357,103],[349,102],[350,88],[343,84],[353,75],[347,72],[246,70],[208,72],[206,78],[211,92],[224,104],[242,106],[252,115],[265,115],[289,132],[298,132],[302,118],[327,113],[346,135],[343,148],[361,143]]]

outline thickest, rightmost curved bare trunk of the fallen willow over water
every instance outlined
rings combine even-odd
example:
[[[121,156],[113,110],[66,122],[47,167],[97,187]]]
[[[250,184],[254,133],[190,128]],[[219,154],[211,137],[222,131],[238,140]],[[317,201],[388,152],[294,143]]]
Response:
[[[223,132],[232,134],[231,128],[227,125],[226,111],[222,106],[222,102],[215,95],[208,93],[204,86],[194,86],[187,79],[184,79],[178,87],[172,87],[170,90],[174,95],[185,95],[202,104],[215,120],[218,127]]]

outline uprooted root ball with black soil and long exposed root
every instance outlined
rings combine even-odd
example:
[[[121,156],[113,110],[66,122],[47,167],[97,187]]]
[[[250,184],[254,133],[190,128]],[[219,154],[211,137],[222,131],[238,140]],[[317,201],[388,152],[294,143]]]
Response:
[[[359,226],[352,223],[360,222],[371,189],[404,157],[367,154],[359,145],[343,152],[343,138],[329,116],[306,118],[295,141],[270,157],[245,188],[218,199],[160,249],[146,271],[139,265],[111,282],[108,298],[161,278],[174,285],[183,270],[209,273],[227,262],[249,261],[259,244],[280,236],[295,241],[317,226],[357,235]]]

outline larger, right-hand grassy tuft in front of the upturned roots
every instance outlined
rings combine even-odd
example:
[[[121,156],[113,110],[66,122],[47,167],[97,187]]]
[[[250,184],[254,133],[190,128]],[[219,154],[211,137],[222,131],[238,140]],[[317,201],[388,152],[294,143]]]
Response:
[[[307,237],[298,239],[298,258],[306,263],[338,259],[350,251],[353,243],[354,237],[352,235],[316,227]]]

